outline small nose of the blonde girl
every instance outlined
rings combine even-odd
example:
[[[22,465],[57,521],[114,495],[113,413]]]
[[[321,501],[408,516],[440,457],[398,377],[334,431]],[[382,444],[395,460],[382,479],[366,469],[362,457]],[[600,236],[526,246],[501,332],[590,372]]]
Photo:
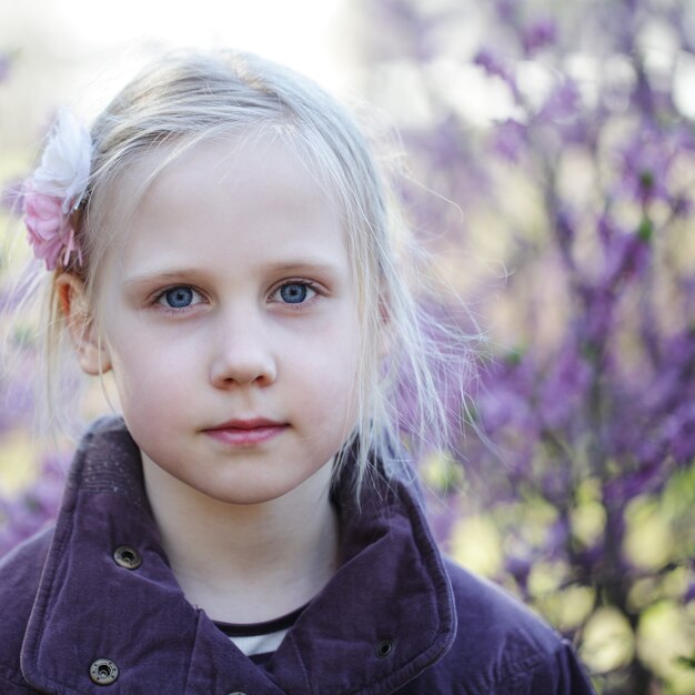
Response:
[[[275,381],[278,367],[264,326],[258,319],[240,318],[226,322],[213,339],[210,381],[216,389],[255,383],[268,386]]]

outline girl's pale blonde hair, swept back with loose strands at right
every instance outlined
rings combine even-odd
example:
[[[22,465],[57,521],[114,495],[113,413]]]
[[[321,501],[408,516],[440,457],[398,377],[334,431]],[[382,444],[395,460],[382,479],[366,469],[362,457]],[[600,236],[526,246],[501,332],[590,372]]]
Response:
[[[372,453],[389,469],[397,464],[399,440],[405,431],[410,455],[441,446],[452,422],[452,387],[466,379],[463,336],[454,330],[449,355],[441,341],[447,330],[427,318],[413,300],[396,261],[394,239],[404,243],[404,225],[366,140],[353,117],[311,80],[260,59],[232,51],[174,54],[130,82],[92,127],[94,152],[85,202],[78,220],[81,266],[74,272],[94,298],[100,270],[118,234],[109,224],[107,201],[112,187],[154,149],[165,148],[164,164],[197,143],[212,138],[272,134],[292,149],[338,201],[348,239],[361,321],[362,366],[355,384],[357,424],[339,452],[335,469],[349,452],[355,459],[359,490],[370,472]],[[142,194],[148,182],[143,182]],[[134,211],[137,201],[132,201]],[[130,203],[129,203],[130,205]],[[122,221],[129,211],[119,210]],[[62,330],[57,298],[51,300],[54,344]],[[439,335],[435,333],[439,332]],[[384,333],[387,354],[380,357]],[[452,342],[453,341],[453,342]],[[451,350],[452,345],[461,349]],[[433,367],[433,363],[435,366]],[[442,391],[441,375],[449,380]],[[452,386],[452,384],[454,384]],[[460,409],[455,405],[454,409]]]

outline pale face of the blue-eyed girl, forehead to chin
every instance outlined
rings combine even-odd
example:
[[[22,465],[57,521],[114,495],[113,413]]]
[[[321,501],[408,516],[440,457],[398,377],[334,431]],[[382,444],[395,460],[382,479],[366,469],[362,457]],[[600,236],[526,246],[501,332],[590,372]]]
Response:
[[[125,233],[98,301],[145,461],[239,504],[330,465],[356,419],[361,335],[339,213],[301,162],[279,142],[197,145]]]

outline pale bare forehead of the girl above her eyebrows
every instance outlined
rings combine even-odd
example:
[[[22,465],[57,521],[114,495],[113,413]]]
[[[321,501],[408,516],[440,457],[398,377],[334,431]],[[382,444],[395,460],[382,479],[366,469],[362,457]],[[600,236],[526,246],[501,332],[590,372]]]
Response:
[[[138,201],[119,232],[115,256],[125,264],[181,255],[216,260],[225,251],[262,251],[279,262],[290,251],[345,253],[339,205],[276,138],[216,139],[179,154],[148,154],[123,178],[118,197],[127,205]],[[118,208],[114,200],[114,214]]]

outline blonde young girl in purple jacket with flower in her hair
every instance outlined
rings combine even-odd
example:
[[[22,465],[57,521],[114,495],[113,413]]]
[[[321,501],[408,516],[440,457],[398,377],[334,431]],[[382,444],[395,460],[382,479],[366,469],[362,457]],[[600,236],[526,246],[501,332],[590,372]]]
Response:
[[[50,325],[122,414],[0,564],[0,692],[592,692],[440,554],[404,480],[399,426],[415,449],[443,406],[330,97],[250,56],[170,58],[91,133],[60,113],[24,211]]]

